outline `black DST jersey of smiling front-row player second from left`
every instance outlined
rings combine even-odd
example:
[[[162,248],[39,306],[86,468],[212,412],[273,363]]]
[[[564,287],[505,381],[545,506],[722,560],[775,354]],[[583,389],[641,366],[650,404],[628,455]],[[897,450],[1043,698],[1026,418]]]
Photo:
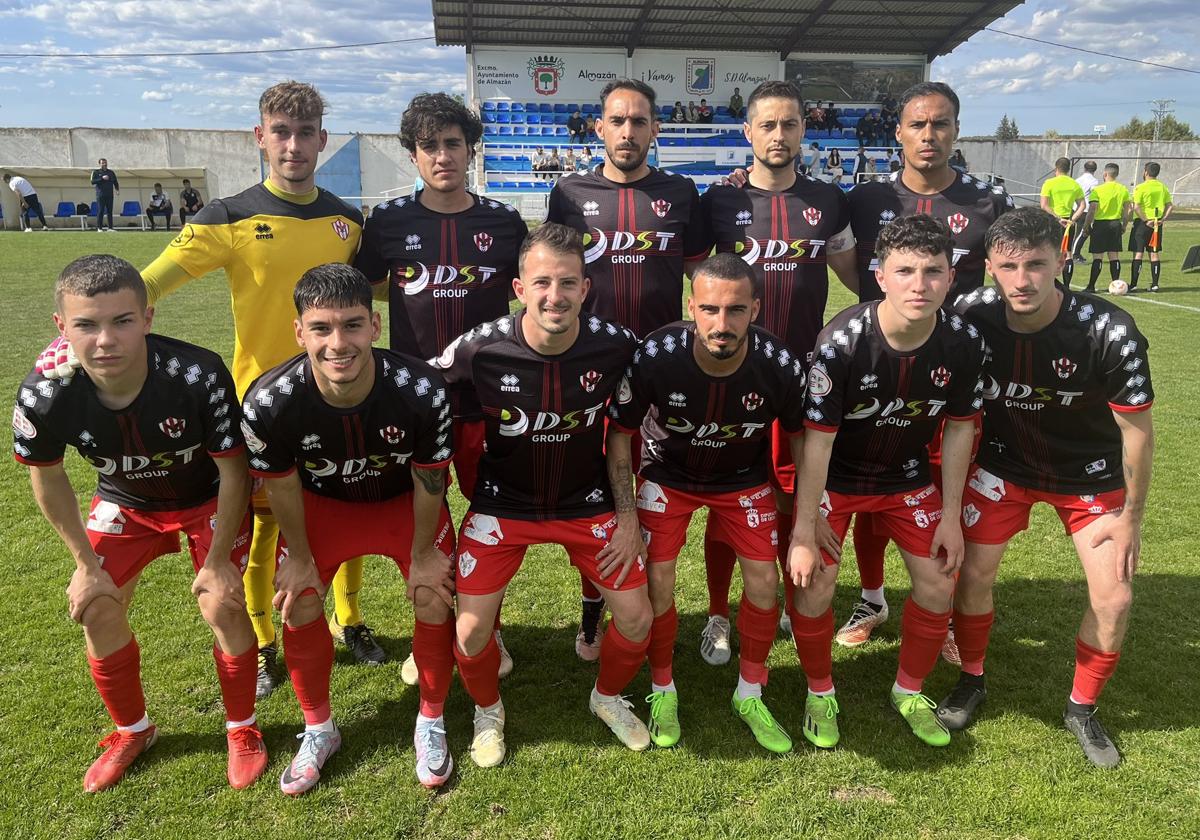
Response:
[[[300,470],[305,490],[342,502],[384,502],[413,490],[412,468],[454,456],[454,419],[442,377],[412,356],[372,348],[374,386],[358,406],[325,402],[307,354],[253,382],[242,401],[250,472]]]

